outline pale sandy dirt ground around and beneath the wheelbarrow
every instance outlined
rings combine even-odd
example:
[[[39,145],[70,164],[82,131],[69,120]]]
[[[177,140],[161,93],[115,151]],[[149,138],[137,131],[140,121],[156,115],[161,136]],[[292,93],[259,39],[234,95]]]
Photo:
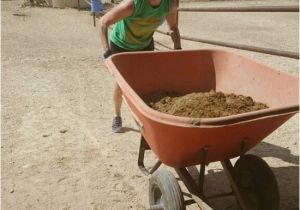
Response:
[[[282,4],[298,1],[182,6]],[[149,177],[137,166],[140,135],[126,106],[128,132],[111,132],[113,78],[89,12],[19,5],[1,1],[1,209],[147,209]],[[180,13],[179,26],[183,35],[298,51],[298,19],[298,13]],[[171,46],[165,35],[156,34],[155,40],[157,50],[167,50],[161,43]],[[219,48],[190,41],[182,46]],[[298,60],[239,52],[298,75]],[[272,168],[282,210],[299,209],[298,122],[297,114],[249,151]],[[153,154],[146,157],[146,165],[152,164]],[[228,190],[219,163],[208,166],[204,190]],[[211,205],[238,209],[232,197]]]

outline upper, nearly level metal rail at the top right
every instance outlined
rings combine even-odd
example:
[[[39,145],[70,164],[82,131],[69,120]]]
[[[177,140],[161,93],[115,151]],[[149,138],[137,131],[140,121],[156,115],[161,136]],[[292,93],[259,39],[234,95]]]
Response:
[[[299,12],[298,5],[178,8],[180,12]]]

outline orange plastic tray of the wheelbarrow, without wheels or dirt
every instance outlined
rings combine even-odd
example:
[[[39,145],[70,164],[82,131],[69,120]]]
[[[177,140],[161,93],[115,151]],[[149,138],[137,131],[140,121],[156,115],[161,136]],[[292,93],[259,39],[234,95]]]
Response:
[[[186,167],[226,160],[246,152],[299,109],[298,77],[224,50],[130,52],[111,56],[106,65],[120,86],[142,135],[161,162]],[[143,98],[155,91],[207,92],[251,96],[269,108],[218,118],[168,115]]]

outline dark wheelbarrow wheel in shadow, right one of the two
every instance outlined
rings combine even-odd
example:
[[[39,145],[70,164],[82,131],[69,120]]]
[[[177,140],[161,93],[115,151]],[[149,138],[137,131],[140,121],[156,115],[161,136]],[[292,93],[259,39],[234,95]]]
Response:
[[[255,155],[244,155],[234,165],[236,182],[252,210],[279,210],[279,190],[268,164]]]

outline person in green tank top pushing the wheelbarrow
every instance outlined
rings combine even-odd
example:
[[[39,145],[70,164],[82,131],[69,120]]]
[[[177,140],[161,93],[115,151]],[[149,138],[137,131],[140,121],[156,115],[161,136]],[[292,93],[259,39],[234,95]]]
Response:
[[[181,49],[177,26],[178,0],[123,0],[100,20],[98,29],[104,58],[131,51],[153,51],[153,34],[166,20],[174,49]],[[108,27],[114,25],[108,37]],[[114,89],[112,131],[122,132],[122,92],[117,83]]]

